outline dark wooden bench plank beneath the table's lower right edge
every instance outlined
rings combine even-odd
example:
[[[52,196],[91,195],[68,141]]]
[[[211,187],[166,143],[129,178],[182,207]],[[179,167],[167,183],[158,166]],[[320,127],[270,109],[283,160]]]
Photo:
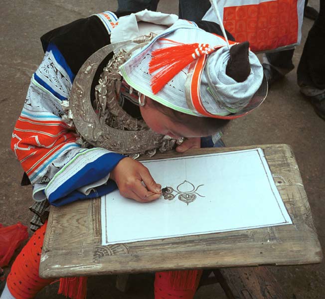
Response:
[[[285,299],[287,296],[266,267],[243,267],[214,270],[229,299]]]

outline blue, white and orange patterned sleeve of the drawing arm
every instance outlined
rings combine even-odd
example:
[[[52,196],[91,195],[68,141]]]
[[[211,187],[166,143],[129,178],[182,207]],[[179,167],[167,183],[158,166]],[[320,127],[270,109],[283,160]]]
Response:
[[[116,188],[109,173],[124,157],[107,149],[82,149],[63,120],[74,74],[61,52],[49,44],[31,78],[11,139],[22,168],[33,184],[33,198],[62,205],[93,198]]]

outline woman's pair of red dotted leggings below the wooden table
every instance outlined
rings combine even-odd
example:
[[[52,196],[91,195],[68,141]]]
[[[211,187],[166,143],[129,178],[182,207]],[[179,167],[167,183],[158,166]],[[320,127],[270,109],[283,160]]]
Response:
[[[42,279],[38,275],[46,226],[47,222],[33,234],[11,267],[7,287],[16,299],[34,298],[55,280]],[[192,299],[201,274],[202,271],[157,272],[155,299]]]

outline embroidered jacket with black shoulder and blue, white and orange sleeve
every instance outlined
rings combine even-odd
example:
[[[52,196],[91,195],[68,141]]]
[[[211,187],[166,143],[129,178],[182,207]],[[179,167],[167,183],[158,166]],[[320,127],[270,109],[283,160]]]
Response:
[[[117,24],[118,17],[106,11],[76,20],[41,37],[45,55],[31,78],[12,133],[11,149],[33,185],[34,200],[45,207],[46,199],[60,206],[98,197],[116,188],[116,184],[108,180],[109,173],[124,156],[107,149],[83,149],[76,144],[76,132],[62,120],[61,103],[69,99],[81,65],[110,43],[110,32]],[[206,31],[221,34],[215,23],[199,21],[196,24]],[[108,56],[98,68],[93,85],[110,58]],[[202,146],[213,146],[210,141],[204,143]],[[33,210],[39,214],[37,208]]]

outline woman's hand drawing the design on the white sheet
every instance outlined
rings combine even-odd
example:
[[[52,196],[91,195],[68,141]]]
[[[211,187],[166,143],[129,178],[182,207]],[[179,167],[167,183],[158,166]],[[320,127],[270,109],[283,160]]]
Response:
[[[162,195],[162,186],[155,182],[148,168],[129,157],[123,158],[115,166],[110,179],[116,182],[122,196],[136,201],[149,202]]]

